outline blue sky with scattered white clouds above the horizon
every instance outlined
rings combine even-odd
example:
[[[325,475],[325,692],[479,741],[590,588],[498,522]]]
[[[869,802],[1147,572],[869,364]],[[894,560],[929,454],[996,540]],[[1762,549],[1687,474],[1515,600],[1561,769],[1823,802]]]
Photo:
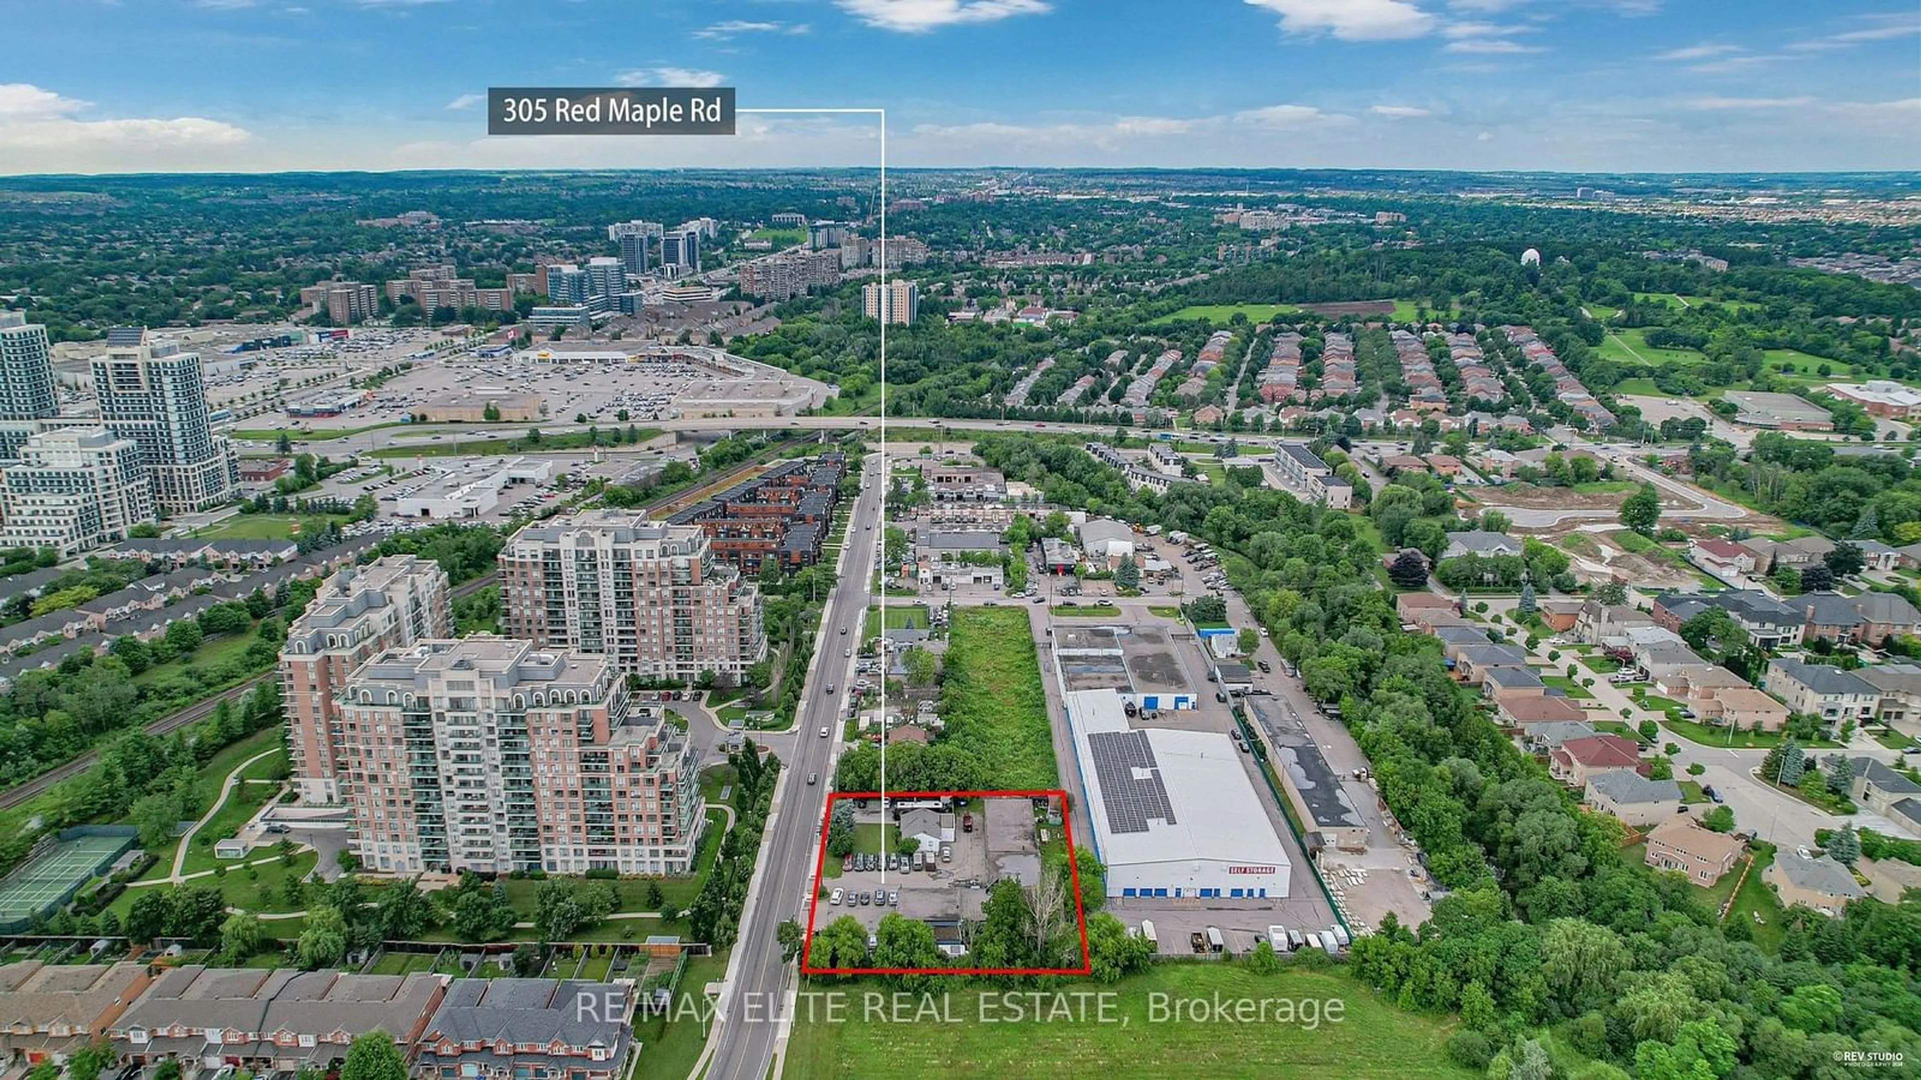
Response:
[[[1921,167],[1913,0],[33,0],[0,173],[861,165],[872,121],[488,138],[488,85],[884,106],[895,165]]]

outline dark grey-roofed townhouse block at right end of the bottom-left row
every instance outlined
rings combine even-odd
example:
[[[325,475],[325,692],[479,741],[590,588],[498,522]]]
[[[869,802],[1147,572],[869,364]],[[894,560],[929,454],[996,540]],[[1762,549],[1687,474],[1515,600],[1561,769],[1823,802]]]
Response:
[[[622,1080],[636,990],[559,978],[455,980],[417,1040],[419,1080]]]

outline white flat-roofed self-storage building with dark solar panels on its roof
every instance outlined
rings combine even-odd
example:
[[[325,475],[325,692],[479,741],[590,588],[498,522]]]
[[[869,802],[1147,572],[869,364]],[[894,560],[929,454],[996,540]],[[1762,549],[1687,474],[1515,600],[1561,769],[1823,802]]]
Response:
[[[1114,690],[1068,692],[1066,713],[1106,896],[1287,896],[1287,849],[1226,734],[1131,728]]]

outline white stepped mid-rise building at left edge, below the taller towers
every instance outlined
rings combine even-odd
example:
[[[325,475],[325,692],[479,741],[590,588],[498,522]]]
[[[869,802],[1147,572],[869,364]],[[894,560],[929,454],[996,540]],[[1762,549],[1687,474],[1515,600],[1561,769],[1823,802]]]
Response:
[[[125,540],[154,521],[140,448],[106,429],[35,434],[0,465],[0,548],[54,548],[61,557]]]

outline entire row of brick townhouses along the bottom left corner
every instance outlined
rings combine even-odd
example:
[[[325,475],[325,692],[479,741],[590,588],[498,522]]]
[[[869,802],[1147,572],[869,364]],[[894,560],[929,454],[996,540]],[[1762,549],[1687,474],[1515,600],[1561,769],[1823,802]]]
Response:
[[[365,1032],[392,1036],[419,1080],[619,1080],[636,1051],[626,980],[19,961],[0,967],[0,1061],[106,1042],[115,1067],[173,1061],[188,1080],[330,1074]]]

